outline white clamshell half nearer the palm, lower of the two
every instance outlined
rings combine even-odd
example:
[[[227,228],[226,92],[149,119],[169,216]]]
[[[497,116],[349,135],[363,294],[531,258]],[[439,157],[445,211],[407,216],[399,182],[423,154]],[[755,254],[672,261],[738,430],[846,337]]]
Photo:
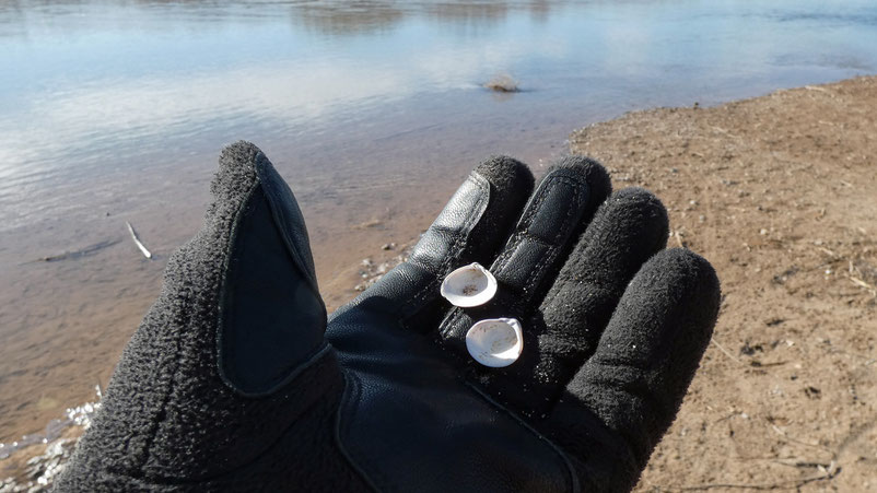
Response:
[[[514,318],[488,318],[466,332],[466,349],[475,361],[502,368],[517,361],[524,350],[524,332]]]

